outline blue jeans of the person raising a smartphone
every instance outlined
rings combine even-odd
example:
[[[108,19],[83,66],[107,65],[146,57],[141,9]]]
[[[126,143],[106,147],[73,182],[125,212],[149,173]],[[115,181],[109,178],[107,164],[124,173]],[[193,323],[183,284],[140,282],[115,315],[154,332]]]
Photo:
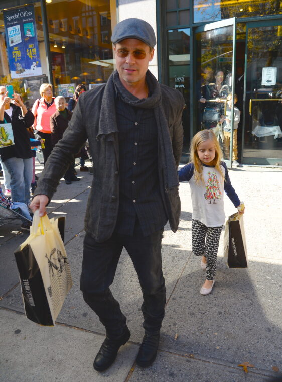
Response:
[[[24,160],[13,157],[4,162],[11,177],[12,201],[25,203]]]

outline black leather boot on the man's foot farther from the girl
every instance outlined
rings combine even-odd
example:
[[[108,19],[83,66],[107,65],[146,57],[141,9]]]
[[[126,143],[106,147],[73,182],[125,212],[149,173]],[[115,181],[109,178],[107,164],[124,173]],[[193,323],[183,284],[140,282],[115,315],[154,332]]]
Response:
[[[102,343],[100,350],[98,351],[93,367],[97,371],[103,371],[107,369],[115,360],[118,349],[121,345],[124,345],[130,338],[130,331],[126,326],[124,333],[117,339],[111,339],[106,336],[106,339]]]

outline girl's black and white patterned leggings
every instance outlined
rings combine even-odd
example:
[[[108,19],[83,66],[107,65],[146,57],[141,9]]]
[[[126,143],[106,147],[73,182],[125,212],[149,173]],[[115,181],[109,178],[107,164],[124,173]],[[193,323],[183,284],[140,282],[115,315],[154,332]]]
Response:
[[[207,227],[199,220],[192,219],[192,252],[207,259],[206,279],[214,280],[219,238],[223,225]]]

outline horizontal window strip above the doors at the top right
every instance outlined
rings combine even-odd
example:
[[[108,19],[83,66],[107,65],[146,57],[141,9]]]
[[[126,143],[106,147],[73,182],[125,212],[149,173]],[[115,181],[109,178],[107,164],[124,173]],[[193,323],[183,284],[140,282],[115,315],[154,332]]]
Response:
[[[282,13],[280,0],[194,0],[194,23]]]

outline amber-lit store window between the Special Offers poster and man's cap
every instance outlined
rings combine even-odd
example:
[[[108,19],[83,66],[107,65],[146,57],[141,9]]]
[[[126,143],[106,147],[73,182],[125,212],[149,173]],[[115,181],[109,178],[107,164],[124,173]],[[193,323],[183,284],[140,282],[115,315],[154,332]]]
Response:
[[[55,94],[68,99],[80,83],[88,89],[106,82],[113,71],[110,2],[73,0],[69,7],[59,0],[46,10]]]

